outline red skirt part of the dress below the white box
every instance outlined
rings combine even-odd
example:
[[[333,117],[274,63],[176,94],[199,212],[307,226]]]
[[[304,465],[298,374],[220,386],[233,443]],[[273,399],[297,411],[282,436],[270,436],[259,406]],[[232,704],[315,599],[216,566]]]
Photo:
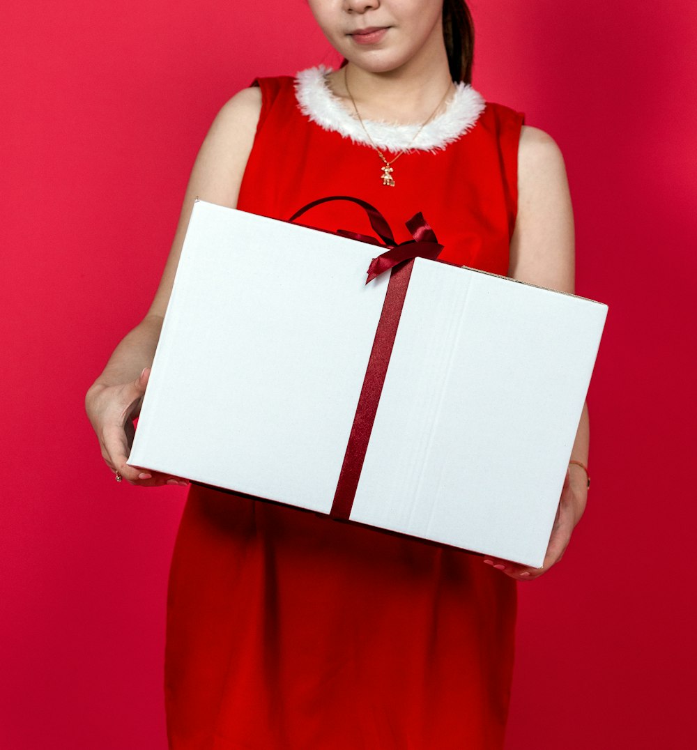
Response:
[[[514,622],[515,582],[478,556],[194,486],[170,747],[501,748]]]

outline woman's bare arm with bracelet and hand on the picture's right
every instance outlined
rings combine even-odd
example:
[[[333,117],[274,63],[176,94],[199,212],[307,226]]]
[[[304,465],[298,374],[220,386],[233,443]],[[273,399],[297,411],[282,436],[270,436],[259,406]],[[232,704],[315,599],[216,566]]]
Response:
[[[524,127],[518,149],[518,217],[510,253],[509,276],[540,287],[574,292],[574,226],[566,169],[557,144],[542,130]],[[588,409],[584,405],[571,458],[587,464]],[[586,474],[571,464],[542,568],[487,559],[510,576],[530,580],[563,556],[583,515]]]

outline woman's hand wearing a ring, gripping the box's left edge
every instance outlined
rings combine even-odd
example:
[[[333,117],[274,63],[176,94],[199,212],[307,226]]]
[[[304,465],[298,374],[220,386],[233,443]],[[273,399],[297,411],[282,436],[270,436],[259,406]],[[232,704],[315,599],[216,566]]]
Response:
[[[188,484],[182,478],[128,466],[128,454],[135,433],[134,419],[140,413],[150,369],[146,368],[131,383],[107,386],[95,383],[87,392],[85,406],[89,421],[97,433],[102,458],[116,475],[131,484],[157,487],[161,484]]]

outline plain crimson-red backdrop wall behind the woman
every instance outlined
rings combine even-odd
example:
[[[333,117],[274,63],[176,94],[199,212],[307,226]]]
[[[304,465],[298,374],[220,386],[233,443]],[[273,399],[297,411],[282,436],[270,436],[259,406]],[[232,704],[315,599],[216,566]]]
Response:
[[[560,143],[578,293],[608,302],[593,488],[521,586],[510,750],[697,746],[697,5],[475,0],[476,87]],[[3,10],[0,747],[164,748],[183,494],[119,486],[83,394],[137,323],[216,111],[334,57],[302,0]]]

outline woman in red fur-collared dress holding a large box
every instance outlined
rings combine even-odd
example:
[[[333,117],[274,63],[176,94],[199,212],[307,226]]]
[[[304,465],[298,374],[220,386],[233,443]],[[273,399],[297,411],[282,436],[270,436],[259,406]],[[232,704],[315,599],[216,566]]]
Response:
[[[287,218],[317,197],[355,195],[395,227],[420,210],[442,260],[573,291],[562,157],[467,85],[464,3],[309,5],[347,64],[260,80],[223,107],[152,307],[87,395],[119,481],[185,483],[126,460],[196,196]],[[314,226],[363,229],[348,204],[316,211]],[[192,487],[170,575],[170,746],[500,748],[515,580],[562,556],[584,510],[587,443],[584,409],[540,569]]]

